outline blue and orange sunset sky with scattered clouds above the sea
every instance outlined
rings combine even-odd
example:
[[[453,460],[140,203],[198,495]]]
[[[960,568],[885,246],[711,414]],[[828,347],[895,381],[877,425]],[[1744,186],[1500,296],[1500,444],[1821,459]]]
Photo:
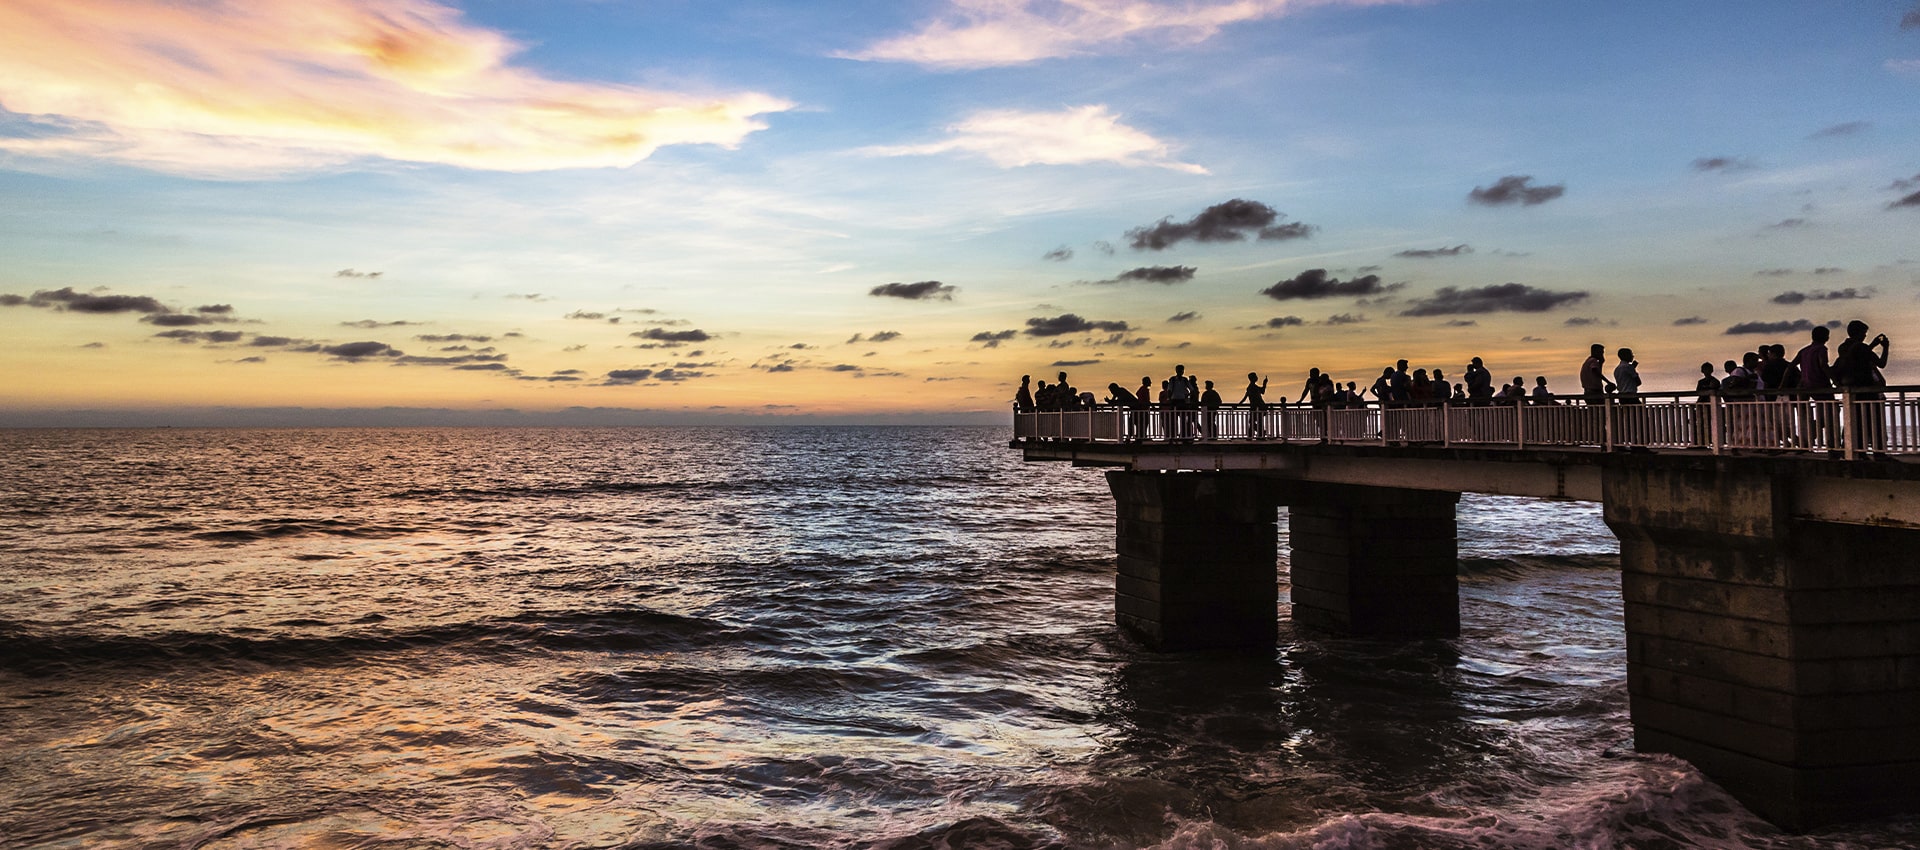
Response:
[[[0,0],[0,426],[1920,384],[1920,4]]]

